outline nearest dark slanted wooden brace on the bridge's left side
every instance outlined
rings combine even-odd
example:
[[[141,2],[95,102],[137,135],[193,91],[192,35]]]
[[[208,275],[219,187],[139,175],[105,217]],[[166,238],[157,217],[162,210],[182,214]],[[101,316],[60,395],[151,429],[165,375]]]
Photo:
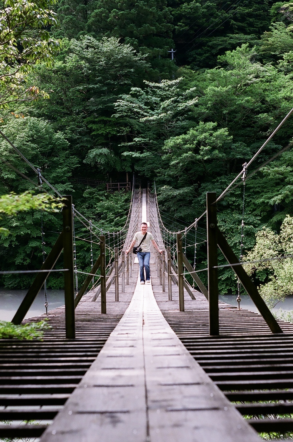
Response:
[[[61,251],[63,249],[63,233],[61,233],[58,236],[58,239],[56,243],[53,245],[52,250],[50,251],[49,255],[46,258],[46,261],[43,263],[41,270],[51,270],[53,269],[54,265],[57,262],[57,259],[61,255]],[[67,268],[67,267],[66,267]],[[15,315],[13,316],[12,323],[13,324],[20,324],[26,316],[27,312],[30,309],[30,306],[32,305],[35,297],[37,296],[38,292],[41,290],[44,282],[46,281],[46,278],[48,278],[50,272],[42,272],[38,273],[37,276],[34,278],[34,282],[30,286],[26,296],[23,298],[22,303],[19,305],[19,308]]]

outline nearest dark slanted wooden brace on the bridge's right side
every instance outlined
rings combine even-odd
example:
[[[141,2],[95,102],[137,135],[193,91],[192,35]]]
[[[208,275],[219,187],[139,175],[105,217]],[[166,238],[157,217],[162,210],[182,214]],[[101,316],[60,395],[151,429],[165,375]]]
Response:
[[[229,246],[227,240],[225,239],[222,232],[217,228],[217,244],[225,258],[227,259],[229,264],[239,264],[239,260],[237,259],[235,253],[232,248]],[[270,327],[272,333],[282,333],[282,329],[279,326],[278,322],[275,320],[274,316],[270,312],[270,309],[267,307],[265,301],[260,296],[259,291],[247,275],[244,268],[240,265],[231,266],[237,277],[240,279],[241,284],[244,289],[247,291],[248,295],[251,297],[252,301],[255,303],[255,306],[259,310],[260,314],[263,316],[263,319],[266,321],[266,324]]]

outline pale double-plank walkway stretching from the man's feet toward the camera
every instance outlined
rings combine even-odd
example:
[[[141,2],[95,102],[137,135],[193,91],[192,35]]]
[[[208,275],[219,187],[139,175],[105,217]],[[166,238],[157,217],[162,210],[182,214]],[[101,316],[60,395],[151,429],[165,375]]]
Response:
[[[42,442],[241,442],[257,433],[167,324],[151,285],[132,301]]]

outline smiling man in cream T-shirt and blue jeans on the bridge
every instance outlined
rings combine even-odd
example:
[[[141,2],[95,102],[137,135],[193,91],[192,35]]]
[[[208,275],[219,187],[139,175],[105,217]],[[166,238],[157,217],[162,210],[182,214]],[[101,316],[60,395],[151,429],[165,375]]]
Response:
[[[129,246],[129,249],[126,250],[126,252],[125,252],[127,255],[129,253],[129,251],[133,248],[136,241],[138,241],[138,244],[139,244],[141,242],[141,240],[143,239],[143,237],[145,236],[145,234],[146,234],[145,240],[141,243],[141,251],[137,252],[141,284],[145,284],[145,282],[147,284],[149,284],[151,282],[150,281],[151,275],[150,275],[150,271],[149,271],[149,259],[151,256],[150,242],[152,241],[152,244],[157,249],[157,251],[162,253],[162,251],[158,247],[158,244],[154,240],[152,233],[148,232],[148,225],[146,222],[141,223],[141,231],[136,232],[136,234],[134,235],[134,238],[132,240],[132,243]],[[144,271],[144,269],[145,269],[145,271]]]

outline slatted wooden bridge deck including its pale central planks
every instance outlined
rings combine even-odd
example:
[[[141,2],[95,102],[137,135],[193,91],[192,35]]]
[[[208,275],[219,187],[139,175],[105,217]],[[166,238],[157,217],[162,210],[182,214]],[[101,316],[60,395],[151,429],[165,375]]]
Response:
[[[142,201],[137,196],[128,244],[145,213]],[[147,217],[162,246],[152,198]],[[63,307],[49,312],[43,342],[1,340],[0,414],[12,422],[0,425],[0,437],[254,442],[254,428],[284,431],[284,419],[258,416],[272,414],[276,404],[263,404],[272,397],[279,413],[293,411],[293,324],[280,322],[285,333],[272,335],[260,315],[220,303],[220,336],[211,337],[202,293],[193,291],[191,300],[185,291],[186,311],[179,312],[178,288],[172,284],[167,301],[153,259],[152,285],[137,284],[137,274],[134,264],[119,302],[110,287],[107,315],[99,297],[84,295],[74,341],[65,339]],[[293,428],[291,419],[287,424]]]

